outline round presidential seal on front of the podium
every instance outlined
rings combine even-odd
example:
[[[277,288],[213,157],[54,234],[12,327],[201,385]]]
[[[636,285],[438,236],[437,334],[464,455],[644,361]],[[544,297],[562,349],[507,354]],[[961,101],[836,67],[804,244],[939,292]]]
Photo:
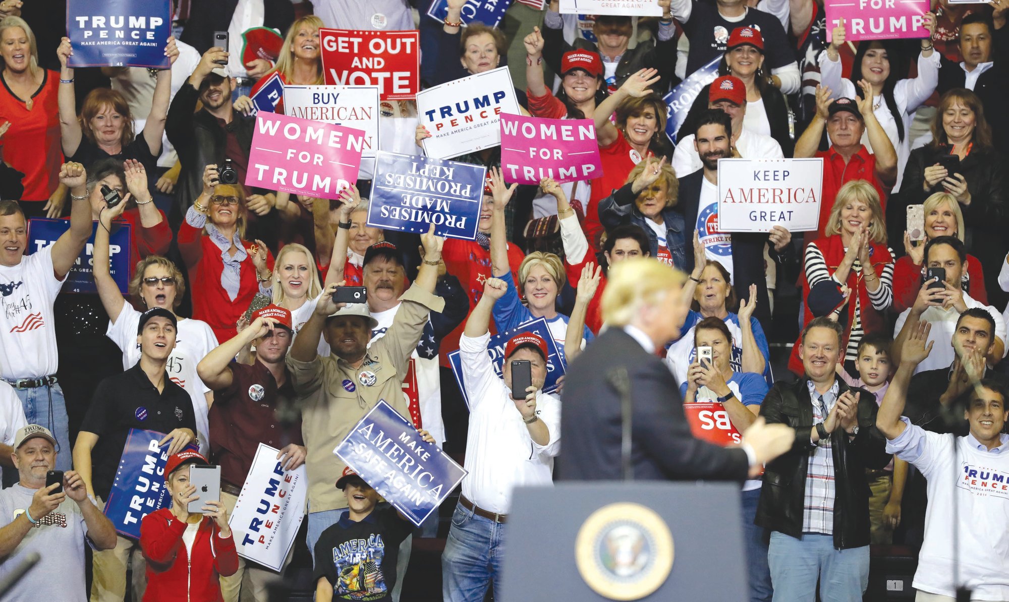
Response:
[[[673,568],[673,535],[655,510],[621,502],[592,512],[575,539],[575,564],[588,587],[610,600],[639,600]]]

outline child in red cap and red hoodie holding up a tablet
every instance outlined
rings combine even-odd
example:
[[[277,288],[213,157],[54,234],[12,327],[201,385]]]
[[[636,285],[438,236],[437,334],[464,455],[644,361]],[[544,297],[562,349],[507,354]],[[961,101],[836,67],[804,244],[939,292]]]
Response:
[[[220,577],[230,577],[238,570],[238,553],[224,504],[206,500],[203,515],[189,512],[189,503],[200,499],[190,484],[193,466],[210,463],[193,451],[169,458],[164,482],[172,494],[172,507],[155,510],[140,521],[140,549],[147,560],[143,602],[222,602]]]

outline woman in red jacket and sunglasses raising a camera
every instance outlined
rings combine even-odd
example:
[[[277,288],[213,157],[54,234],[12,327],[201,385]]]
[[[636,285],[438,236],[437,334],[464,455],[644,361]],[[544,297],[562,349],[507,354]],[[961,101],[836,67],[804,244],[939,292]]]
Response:
[[[233,338],[235,323],[256,292],[272,296],[273,256],[245,235],[242,187],[218,182],[217,165],[203,170],[203,193],[179,228],[179,251],[189,272],[193,318],[210,325],[218,341]]]

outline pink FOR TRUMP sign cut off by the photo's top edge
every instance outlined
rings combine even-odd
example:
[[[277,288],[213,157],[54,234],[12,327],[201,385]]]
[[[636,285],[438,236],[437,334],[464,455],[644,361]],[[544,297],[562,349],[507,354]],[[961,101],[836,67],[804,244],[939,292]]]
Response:
[[[928,37],[924,14],[929,0],[825,0],[826,41],[845,19],[846,39]]]

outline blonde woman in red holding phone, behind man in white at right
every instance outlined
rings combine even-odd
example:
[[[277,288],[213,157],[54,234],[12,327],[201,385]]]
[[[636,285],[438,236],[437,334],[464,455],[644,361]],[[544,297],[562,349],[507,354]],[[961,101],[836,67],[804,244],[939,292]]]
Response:
[[[921,290],[921,278],[924,267],[922,256],[925,243],[936,236],[956,236],[964,241],[964,213],[960,203],[949,193],[935,193],[925,199],[923,204],[925,214],[925,240],[917,246],[911,244],[911,238],[904,231],[904,252],[907,253],[897,260],[893,268],[893,309],[900,313],[914,305],[914,299]],[[985,288],[985,272],[981,261],[974,255],[967,256],[967,271],[964,272],[962,283],[965,291],[977,302],[988,305],[988,290]]]

